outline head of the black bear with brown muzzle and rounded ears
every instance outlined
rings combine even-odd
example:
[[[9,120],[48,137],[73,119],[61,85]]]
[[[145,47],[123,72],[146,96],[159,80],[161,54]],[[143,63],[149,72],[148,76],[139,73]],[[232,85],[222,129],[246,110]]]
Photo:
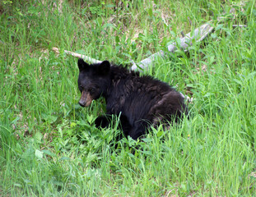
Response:
[[[92,100],[100,98],[109,86],[110,63],[104,61],[89,65],[83,59],[78,60],[78,89],[81,92],[79,104],[88,107]]]

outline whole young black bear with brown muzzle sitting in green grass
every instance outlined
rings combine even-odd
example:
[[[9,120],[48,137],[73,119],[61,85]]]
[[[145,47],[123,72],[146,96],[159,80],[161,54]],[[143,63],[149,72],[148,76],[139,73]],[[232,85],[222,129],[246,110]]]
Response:
[[[108,115],[116,114],[124,135],[137,140],[150,126],[178,121],[187,113],[184,95],[151,76],[110,66],[108,61],[89,65],[81,58],[78,68],[79,104],[87,107],[101,96],[106,101],[106,114],[96,118],[96,126],[108,126]]]

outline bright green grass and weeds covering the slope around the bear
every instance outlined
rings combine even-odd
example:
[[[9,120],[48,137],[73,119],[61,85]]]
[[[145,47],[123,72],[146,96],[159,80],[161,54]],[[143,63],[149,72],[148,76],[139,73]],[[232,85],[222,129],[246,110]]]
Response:
[[[0,2],[0,195],[254,196],[255,2],[122,2]],[[190,118],[140,142],[95,128],[104,100],[80,108],[77,58],[51,50],[140,62],[210,20],[146,71],[193,98]]]

